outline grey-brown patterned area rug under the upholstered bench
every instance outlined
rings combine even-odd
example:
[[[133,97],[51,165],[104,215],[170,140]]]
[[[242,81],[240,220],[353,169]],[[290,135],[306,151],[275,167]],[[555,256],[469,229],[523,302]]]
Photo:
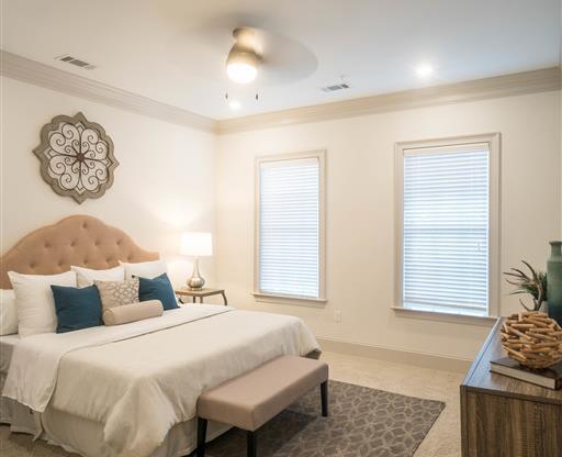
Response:
[[[329,382],[329,417],[319,389],[258,431],[260,457],[411,457],[445,403]],[[246,434],[232,428],[207,444],[209,457],[245,457]]]

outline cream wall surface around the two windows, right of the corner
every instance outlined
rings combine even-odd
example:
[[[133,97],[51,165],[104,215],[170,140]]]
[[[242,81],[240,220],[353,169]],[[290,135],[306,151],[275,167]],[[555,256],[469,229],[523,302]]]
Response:
[[[560,96],[547,92],[303,124],[218,138],[217,278],[237,305],[295,314],[317,336],[471,358],[487,327],[397,316],[395,142],[501,132],[502,270],[544,265],[560,233]],[[254,157],[327,149],[327,297],[323,308],[258,303],[252,290]],[[502,285],[501,310],[517,309]],[[334,313],[341,311],[342,321]]]

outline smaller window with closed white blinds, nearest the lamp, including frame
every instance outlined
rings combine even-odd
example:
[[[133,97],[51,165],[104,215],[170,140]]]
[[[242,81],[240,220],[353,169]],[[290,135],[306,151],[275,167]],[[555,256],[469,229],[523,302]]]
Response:
[[[324,152],[256,164],[256,291],[324,300]]]

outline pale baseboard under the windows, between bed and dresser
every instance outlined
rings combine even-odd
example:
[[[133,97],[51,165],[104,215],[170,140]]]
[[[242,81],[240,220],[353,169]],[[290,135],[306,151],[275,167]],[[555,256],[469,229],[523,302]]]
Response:
[[[323,350],[465,374],[472,360],[318,337]]]

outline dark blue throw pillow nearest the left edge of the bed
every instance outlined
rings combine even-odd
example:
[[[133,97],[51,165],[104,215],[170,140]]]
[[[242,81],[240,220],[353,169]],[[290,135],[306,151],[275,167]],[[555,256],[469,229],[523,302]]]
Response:
[[[100,293],[95,286],[76,288],[50,286],[57,313],[57,333],[103,325]]]

